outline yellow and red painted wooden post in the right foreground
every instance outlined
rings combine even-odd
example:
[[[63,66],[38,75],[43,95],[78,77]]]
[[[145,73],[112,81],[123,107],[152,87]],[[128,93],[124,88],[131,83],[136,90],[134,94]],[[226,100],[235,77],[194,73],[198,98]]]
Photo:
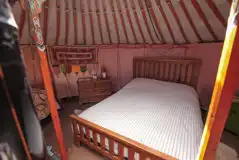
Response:
[[[234,93],[239,81],[239,0],[232,4],[229,24],[217,71],[216,82],[204,127],[201,144],[200,160],[215,159],[215,153],[231,108]]]

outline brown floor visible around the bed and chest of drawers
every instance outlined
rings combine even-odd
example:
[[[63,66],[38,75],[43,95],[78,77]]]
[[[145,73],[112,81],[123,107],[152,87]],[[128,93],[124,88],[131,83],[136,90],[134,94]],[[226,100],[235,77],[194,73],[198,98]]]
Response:
[[[77,99],[68,99],[64,101],[64,109],[61,110],[60,120],[63,130],[64,142],[68,149],[69,160],[103,160],[104,157],[97,152],[89,149],[87,146],[76,147],[73,145],[73,136],[71,133],[71,124],[69,115],[74,113],[75,109],[83,111],[93,104],[80,106]],[[57,140],[51,121],[43,125],[43,132],[46,143],[53,147],[53,152],[59,153]],[[226,145],[220,145],[217,160],[239,160],[239,136],[235,136],[229,132],[224,132],[221,142]],[[229,146],[229,147],[228,147]],[[231,149],[232,148],[232,149]]]

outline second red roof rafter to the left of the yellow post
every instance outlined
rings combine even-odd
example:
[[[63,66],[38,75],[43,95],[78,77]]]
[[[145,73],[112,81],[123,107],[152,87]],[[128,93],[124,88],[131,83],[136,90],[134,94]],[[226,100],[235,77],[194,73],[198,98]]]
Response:
[[[193,4],[194,8],[196,9],[196,11],[198,12],[198,15],[200,16],[200,18],[204,22],[205,26],[207,27],[208,31],[211,33],[213,39],[217,41],[218,38],[217,38],[216,34],[214,33],[211,25],[207,21],[207,17],[203,13],[203,11],[202,11],[201,7],[199,6],[197,0],[192,0],[192,4]]]

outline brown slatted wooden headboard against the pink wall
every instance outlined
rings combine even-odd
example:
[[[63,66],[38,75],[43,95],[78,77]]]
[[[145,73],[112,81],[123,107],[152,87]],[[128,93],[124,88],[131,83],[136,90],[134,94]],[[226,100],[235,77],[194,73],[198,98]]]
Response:
[[[183,83],[197,88],[201,60],[160,57],[134,57],[134,78]]]

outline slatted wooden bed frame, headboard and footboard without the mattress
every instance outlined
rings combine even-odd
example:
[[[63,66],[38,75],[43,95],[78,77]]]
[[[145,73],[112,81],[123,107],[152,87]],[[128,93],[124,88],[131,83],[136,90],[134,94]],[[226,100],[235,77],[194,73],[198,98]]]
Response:
[[[196,89],[200,67],[201,61],[198,59],[136,57],[133,59],[133,77],[182,83]],[[128,149],[128,160],[134,160],[135,154],[139,155],[140,160],[176,159],[76,115],[71,115],[70,118],[74,143],[77,146],[84,143],[110,159],[124,160],[124,148]],[[100,143],[97,136],[100,136]],[[106,149],[105,138],[108,139],[109,149]],[[118,144],[117,155],[114,153],[115,144]]]

